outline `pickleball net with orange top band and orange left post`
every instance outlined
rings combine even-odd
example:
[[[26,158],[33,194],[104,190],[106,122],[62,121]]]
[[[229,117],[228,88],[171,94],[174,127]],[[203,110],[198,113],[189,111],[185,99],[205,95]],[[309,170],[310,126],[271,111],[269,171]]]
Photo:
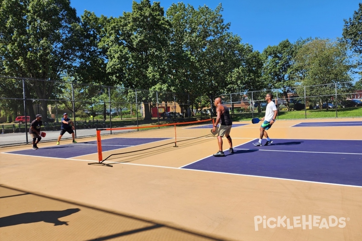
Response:
[[[158,151],[211,137],[211,119],[130,128],[97,129],[98,162]]]

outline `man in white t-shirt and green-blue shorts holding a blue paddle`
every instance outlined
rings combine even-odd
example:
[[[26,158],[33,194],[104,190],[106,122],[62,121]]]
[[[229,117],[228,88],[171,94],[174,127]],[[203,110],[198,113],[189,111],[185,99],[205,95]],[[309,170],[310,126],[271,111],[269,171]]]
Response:
[[[266,106],[266,109],[265,109],[265,117],[260,119],[261,121],[264,121],[264,122],[260,126],[259,141],[256,143],[253,143],[254,146],[262,145],[261,141],[263,139],[263,136],[265,136],[265,138],[266,138],[266,143],[264,144],[264,146],[268,146],[270,143],[273,143],[273,141],[271,141],[271,139],[269,138],[268,133],[266,133],[266,130],[271,128],[271,125],[274,124],[275,118],[278,115],[278,109],[275,106],[275,103],[272,101],[272,99],[273,99],[273,94],[271,94],[271,93],[266,94],[265,100],[266,100],[266,102],[268,102],[268,105]]]

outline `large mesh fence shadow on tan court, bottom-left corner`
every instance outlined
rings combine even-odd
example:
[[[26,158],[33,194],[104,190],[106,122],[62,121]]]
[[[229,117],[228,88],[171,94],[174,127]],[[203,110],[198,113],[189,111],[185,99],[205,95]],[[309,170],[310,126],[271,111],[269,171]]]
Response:
[[[114,238],[125,237],[127,240],[159,240],[156,237],[169,237],[168,240],[190,240],[190,241],[216,241],[226,240],[220,237],[197,233],[176,225],[163,224],[144,218],[138,218],[130,214],[122,214],[88,206],[81,203],[66,201],[60,198],[53,198],[47,195],[32,193],[5,185],[0,185],[0,205],[5,203],[22,202],[24,199],[17,199],[26,195],[29,208],[50,207],[63,208],[61,211],[38,211],[23,212],[0,218],[1,240],[113,240]],[[64,208],[66,206],[79,206],[80,208]],[[16,205],[9,205],[12,210],[7,213],[16,213]],[[18,207],[18,206],[17,206]],[[81,212],[80,212],[81,210]],[[3,214],[4,212],[2,212]],[[73,214],[73,215],[72,215]],[[68,217],[69,221],[60,221],[62,217]],[[108,222],[106,225],[104,222]],[[38,222],[45,222],[54,225],[41,225]],[[22,225],[27,224],[27,225]],[[35,236],[31,236],[29,225],[37,228]],[[54,226],[57,232],[54,232]],[[41,227],[41,228],[39,228]],[[63,227],[63,228],[62,228]]]

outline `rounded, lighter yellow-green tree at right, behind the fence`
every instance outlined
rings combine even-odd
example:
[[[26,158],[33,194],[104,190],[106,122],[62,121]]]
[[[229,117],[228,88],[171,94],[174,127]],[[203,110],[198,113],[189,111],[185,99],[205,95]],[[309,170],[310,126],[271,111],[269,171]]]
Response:
[[[307,86],[310,101],[319,103],[322,108],[324,102],[335,96],[336,85],[333,83],[338,84],[338,89],[349,89],[352,86],[350,69],[350,58],[343,44],[316,38],[298,50],[294,68],[294,74],[297,75],[294,78],[302,86]]]

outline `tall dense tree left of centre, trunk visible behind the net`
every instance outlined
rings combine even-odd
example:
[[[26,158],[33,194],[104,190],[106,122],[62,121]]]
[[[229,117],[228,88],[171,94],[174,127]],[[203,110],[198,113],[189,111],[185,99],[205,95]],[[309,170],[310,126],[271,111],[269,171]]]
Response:
[[[114,73],[111,78],[132,89],[148,90],[162,83],[169,33],[170,24],[159,2],[133,1],[132,12],[110,21],[102,40],[109,46],[107,71]],[[145,105],[145,120],[150,120],[150,97],[146,91],[142,93],[138,98]]]

